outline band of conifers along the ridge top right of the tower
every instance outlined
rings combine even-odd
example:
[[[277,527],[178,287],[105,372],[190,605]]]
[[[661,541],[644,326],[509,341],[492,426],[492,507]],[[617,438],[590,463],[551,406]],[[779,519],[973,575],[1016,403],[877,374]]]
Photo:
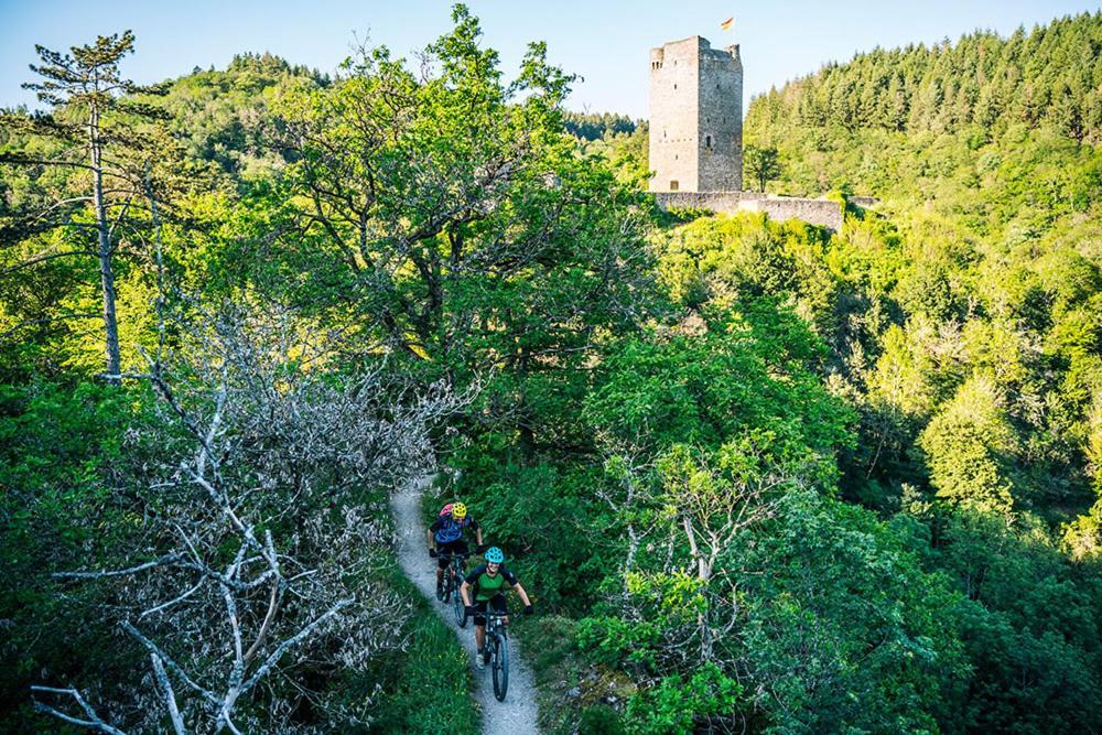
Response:
[[[1099,13],[1082,13],[1007,39],[977,31],[955,44],[877,48],[767,93],[750,116],[791,114],[828,130],[962,132],[973,145],[1016,125],[1050,123],[1098,143],[1100,29]]]

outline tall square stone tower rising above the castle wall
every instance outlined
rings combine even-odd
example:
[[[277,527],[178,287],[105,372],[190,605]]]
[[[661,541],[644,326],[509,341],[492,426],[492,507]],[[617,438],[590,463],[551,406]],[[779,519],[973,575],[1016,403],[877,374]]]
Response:
[[[743,63],[738,46],[693,35],[650,50],[652,192],[743,187]]]

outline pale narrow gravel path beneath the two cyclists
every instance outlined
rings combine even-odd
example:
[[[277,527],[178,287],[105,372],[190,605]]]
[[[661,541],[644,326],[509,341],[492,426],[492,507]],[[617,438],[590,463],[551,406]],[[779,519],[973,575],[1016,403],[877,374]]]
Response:
[[[475,668],[474,625],[467,623],[465,630],[455,625],[451,607],[436,601],[435,561],[429,558],[428,537],[421,522],[421,493],[429,478],[410,483],[390,497],[390,512],[395,517],[398,533],[398,560],[421,594],[424,595],[444,621],[460,637],[464,650],[471,656],[471,671],[475,678],[475,699],[483,712],[483,729],[486,735],[526,735],[539,733],[536,727],[536,685],[528,664],[520,659],[516,640],[509,639],[509,692],[505,702],[494,699],[494,682],[489,667],[485,671]]]

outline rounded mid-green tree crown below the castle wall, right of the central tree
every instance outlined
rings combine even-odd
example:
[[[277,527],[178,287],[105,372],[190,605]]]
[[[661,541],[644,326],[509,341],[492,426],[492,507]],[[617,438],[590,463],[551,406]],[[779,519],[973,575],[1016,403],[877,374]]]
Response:
[[[809,371],[821,349],[791,313],[750,300],[705,324],[623,341],[584,414],[613,441],[651,451],[756,428],[829,452],[847,417]]]

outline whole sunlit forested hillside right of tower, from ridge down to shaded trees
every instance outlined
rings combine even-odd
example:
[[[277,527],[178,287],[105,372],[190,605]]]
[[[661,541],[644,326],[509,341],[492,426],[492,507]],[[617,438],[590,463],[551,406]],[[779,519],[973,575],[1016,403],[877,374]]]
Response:
[[[926,430],[911,460],[909,440],[867,437],[895,483],[921,456],[942,495],[977,500],[936,469],[959,472],[936,458],[963,409],[994,421],[1002,489],[983,505],[1069,520],[1099,489],[1100,48],[1102,15],[1080,15],[860,55],[750,106],[778,190],[883,199],[851,218],[839,263],[880,313],[847,317],[879,336],[835,353],[865,410]]]

